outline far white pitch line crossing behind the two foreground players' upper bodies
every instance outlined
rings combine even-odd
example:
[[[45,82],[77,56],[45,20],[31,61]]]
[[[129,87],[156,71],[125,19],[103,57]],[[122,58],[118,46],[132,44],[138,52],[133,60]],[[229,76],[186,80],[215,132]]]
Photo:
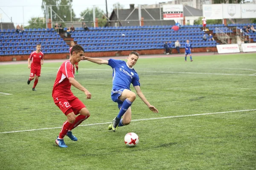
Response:
[[[49,69],[56,69],[54,67],[44,67]],[[98,70],[98,71],[112,71],[110,69],[91,69],[91,68],[79,68],[79,70]],[[137,70],[140,71],[140,70]],[[210,74],[210,75],[230,75],[230,76],[256,76],[256,75],[248,75],[248,74],[221,74],[221,73],[196,73],[196,72],[175,72],[175,71],[140,71],[140,72],[153,72],[153,73],[177,73],[177,74]]]

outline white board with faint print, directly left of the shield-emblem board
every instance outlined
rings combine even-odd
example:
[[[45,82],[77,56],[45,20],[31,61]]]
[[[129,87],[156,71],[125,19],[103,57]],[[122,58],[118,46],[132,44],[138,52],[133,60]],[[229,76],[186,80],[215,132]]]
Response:
[[[203,5],[203,16],[207,20],[223,19],[222,4]]]

